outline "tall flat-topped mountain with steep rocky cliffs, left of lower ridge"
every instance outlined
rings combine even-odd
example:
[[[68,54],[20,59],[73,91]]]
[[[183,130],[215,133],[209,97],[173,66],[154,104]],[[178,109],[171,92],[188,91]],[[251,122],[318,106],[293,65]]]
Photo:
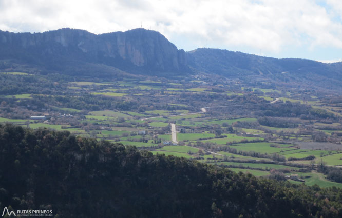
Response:
[[[43,65],[77,61],[145,72],[187,70],[184,50],[145,29],[100,35],[69,28],[33,34],[0,31],[0,46],[2,59],[39,60]]]

